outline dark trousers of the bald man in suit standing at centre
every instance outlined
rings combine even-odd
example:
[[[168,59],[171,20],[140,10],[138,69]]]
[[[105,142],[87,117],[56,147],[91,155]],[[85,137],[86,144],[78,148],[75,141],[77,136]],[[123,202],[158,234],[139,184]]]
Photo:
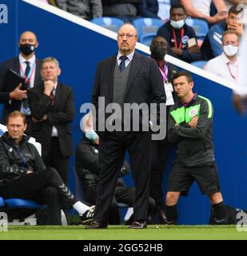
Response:
[[[151,134],[149,132],[106,132],[99,144],[100,174],[94,220],[108,223],[110,206],[125,150],[129,152],[135,185],[135,220],[145,220],[149,204]]]

